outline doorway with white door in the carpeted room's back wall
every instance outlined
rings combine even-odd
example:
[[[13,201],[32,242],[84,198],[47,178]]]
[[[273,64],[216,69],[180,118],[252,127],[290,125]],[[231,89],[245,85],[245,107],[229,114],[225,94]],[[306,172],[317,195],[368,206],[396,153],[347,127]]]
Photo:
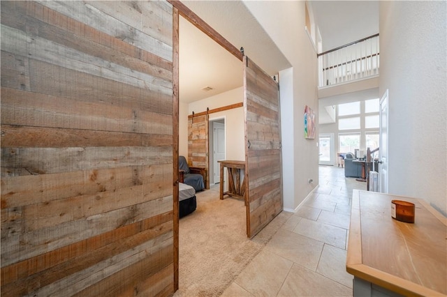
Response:
[[[210,184],[220,182],[219,160],[226,158],[225,119],[210,119]]]

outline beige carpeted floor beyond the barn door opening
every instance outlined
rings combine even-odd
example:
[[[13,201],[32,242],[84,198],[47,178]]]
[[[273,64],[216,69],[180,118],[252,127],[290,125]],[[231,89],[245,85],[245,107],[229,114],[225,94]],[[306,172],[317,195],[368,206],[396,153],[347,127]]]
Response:
[[[175,296],[219,296],[292,214],[280,213],[249,240],[244,201],[220,200],[219,185],[196,197],[196,211],[179,221]]]

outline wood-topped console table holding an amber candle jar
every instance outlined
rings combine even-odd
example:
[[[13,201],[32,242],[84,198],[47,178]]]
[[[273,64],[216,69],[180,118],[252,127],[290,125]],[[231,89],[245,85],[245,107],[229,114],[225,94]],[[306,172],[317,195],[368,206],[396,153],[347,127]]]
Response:
[[[391,200],[416,206],[415,222],[391,218]],[[346,271],[353,296],[447,294],[447,218],[423,199],[353,191]]]

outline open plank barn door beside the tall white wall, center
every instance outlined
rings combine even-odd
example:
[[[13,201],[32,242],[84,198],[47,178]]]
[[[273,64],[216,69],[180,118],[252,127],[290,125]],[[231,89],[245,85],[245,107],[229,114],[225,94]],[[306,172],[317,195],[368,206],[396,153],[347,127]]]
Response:
[[[244,56],[247,236],[282,211],[281,126],[278,84]]]

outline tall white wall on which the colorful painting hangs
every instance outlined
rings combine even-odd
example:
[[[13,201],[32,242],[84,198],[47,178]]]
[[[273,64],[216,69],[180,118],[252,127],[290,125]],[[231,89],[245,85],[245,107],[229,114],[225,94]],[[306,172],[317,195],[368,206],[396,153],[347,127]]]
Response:
[[[317,59],[305,31],[305,1],[244,4],[293,66],[279,73],[284,209],[293,210],[318,184],[318,137],[304,138],[305,105],[318,112]],[[314,180],[312,185],[308,178]]]

